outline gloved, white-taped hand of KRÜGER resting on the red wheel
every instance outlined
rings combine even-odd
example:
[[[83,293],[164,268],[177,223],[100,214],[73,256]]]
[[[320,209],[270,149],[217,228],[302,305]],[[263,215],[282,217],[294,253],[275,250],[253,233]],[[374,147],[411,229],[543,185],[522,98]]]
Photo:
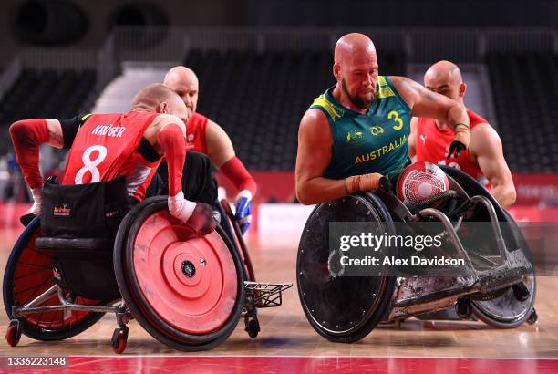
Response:
[[[178,218],[196,233],[210,234],[221,221],[218,212],[206,203],[196,203],[184,199],[184,193],[178,192],[176,196],[169,196],[169,212]]]

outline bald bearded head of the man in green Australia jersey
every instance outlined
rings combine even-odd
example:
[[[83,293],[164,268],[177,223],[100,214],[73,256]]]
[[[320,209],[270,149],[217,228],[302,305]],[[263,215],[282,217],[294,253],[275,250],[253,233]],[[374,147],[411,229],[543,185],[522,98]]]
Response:
[[[367,110],[376,95],[376,47],[364,34],[341,36],[334,53],[336,92],[344,105],[352,109]]]

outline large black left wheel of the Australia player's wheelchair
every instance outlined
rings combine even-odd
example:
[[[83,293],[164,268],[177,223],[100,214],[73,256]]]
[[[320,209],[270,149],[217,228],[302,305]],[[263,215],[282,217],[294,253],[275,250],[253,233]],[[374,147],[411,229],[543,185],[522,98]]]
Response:
[[[396,279],[332,272],[338,254],[329,251],[330,222],[374,223],[387,234],[394,234],[395,228],[385,204],[373,193],[322,203],[305,224],[296,260],[298,296],[305,316],[324,338],[352,343],[366,337],[385,316]]]

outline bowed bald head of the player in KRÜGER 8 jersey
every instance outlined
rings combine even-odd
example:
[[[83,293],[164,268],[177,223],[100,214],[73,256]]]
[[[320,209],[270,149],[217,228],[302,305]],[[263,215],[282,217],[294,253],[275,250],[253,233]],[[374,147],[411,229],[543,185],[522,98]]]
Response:
[[[131,107],[132,110],[140,109],[172,114],[184,122],[190,117],[181,98],[171,88],[160,83],[141,88],[132,99]]]

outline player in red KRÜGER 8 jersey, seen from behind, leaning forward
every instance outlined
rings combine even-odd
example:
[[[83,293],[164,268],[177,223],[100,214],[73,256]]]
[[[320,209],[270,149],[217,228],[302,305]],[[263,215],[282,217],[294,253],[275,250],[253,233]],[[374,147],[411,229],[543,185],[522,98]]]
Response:
[[[125,175],[129,196],[141,201],[161,156],[169,168],[169,211],[202,234],[212,231],[212,208],[184,198],[182,169],[186,157],[184,120],[189,117],[181,98],[162,84],[142,88],[123,114],[94,114],[78,120],[26,119],[10,127],[17,162],[32,189],[37,215],[42,207],[42,177],[38,147],[49,143],[69,148],[64,184],[105,182]]]

